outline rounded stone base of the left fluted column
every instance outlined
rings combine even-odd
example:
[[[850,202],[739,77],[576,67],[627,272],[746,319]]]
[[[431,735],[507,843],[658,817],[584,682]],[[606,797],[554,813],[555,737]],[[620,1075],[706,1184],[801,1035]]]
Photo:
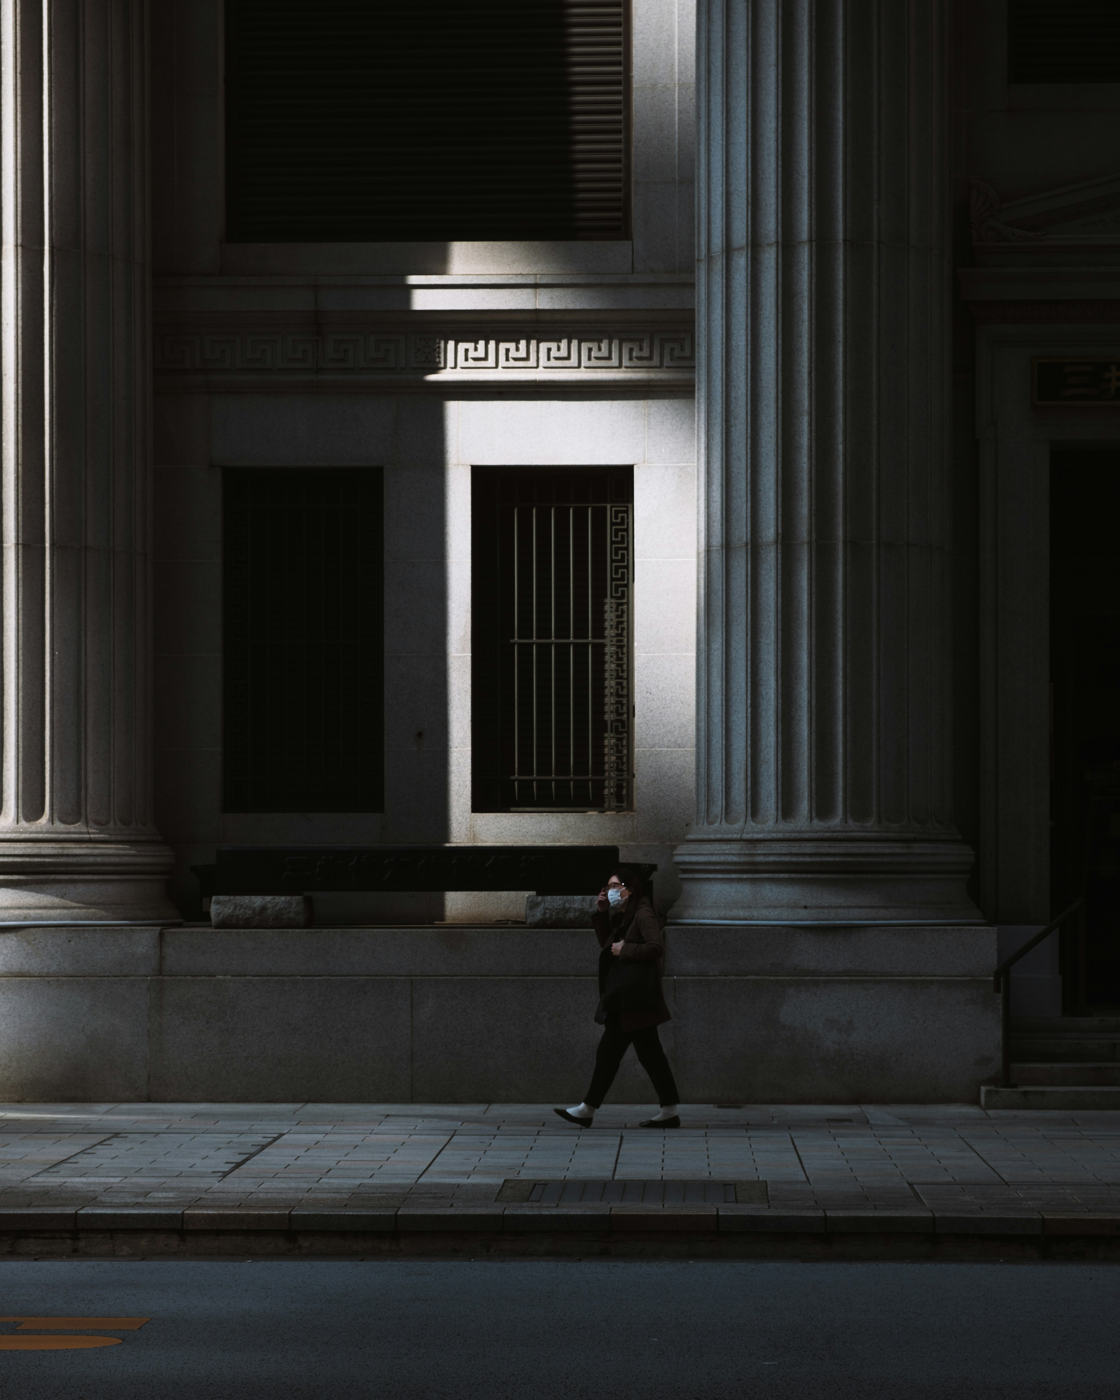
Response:
[[[0,924],[178,921],[161,841],[0,839]]]

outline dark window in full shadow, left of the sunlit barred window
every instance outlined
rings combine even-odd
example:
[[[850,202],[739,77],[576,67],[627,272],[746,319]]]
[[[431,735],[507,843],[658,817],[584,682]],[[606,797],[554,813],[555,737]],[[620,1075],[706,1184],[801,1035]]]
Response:
[[[223,808],[379,812],[381,469],[223,476]]]

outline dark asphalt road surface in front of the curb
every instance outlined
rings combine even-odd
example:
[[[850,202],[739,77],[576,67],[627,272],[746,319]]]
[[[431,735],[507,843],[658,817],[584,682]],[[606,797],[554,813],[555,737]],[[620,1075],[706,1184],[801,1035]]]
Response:
[[[1107,1264],[6,1260],[0,1289],[6,1316],[150,1317],[0,1345],[13,1400],[1120,1397]]]

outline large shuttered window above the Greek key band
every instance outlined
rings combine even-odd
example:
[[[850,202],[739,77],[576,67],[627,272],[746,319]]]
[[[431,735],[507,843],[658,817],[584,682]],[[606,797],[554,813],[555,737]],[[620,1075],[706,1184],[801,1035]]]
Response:
[[[629,237],[627,14],[227,0],[227,238]]]

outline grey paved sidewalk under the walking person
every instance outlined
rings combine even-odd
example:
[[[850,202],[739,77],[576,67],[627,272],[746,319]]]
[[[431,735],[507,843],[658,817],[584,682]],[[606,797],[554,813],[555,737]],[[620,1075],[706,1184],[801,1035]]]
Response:
[[[687,1105],[675,1131],[637,1127],[648,1112],[609,1105],[578,1130],[552,1105],[3,1105],[0,1215],[717,1198],[756,1212],[1120,1212],[1120,1112]]]

